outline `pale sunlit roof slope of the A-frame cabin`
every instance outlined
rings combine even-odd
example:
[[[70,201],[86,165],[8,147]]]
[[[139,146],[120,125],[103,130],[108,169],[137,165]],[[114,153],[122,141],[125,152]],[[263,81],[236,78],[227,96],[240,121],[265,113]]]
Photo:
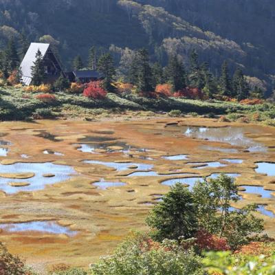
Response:
[[[25,54],[23,61],[21,62],[22,81],[25,85],[30,85],[32,81],[32,66],[36,61],[36,53],[40,50],[44,57],[49,49],[50,44],[45,43],[31,43],[28,52]]]

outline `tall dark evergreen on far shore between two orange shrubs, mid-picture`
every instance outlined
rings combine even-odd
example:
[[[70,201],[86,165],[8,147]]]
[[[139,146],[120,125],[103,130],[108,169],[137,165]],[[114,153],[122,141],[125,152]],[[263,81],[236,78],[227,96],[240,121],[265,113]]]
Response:
[[[132,83],[137,86],[138,91],[145,94],[154,91],[153,73],[147,50],[137,51],[130,71]]]

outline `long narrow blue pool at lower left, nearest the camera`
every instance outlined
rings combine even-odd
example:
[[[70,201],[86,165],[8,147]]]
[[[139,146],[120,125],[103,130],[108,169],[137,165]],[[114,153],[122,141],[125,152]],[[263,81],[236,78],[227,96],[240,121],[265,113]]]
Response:
[[[8,232],[41,232],[50,234],[66,234],[76,236],[78,232],[58,225],[55,221],[31,221],[28,223],[2,223],[0,229]]]

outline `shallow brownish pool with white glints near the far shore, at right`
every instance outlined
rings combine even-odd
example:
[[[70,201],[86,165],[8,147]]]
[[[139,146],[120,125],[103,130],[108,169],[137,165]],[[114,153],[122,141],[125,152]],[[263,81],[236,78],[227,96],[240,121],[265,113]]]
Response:
[[[184,135],[195,137],[210,142],[224,142],[232,146],[241,146],[250,152],[265,152],[267,148],[258,142],[254,142],[245,136],[246,129],[243,127],[218,127],[207,128],[200,126],[181,126]]]

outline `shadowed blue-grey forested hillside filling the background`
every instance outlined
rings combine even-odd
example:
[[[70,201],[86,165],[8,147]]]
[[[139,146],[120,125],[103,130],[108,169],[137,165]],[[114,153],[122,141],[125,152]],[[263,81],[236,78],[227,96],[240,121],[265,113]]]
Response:
[[[0,38],[49,41],[63,61],[91,45],[111,50],[119,62],[124,50],[148,47],[152,61],[166,65],[170,53],[185,63],[191,50],[212,72],[225,59],[230,69],[267,80],[275,74],[275,7],[272,0],[0,0]],[[23,36],[22,36],[23,34]]]

